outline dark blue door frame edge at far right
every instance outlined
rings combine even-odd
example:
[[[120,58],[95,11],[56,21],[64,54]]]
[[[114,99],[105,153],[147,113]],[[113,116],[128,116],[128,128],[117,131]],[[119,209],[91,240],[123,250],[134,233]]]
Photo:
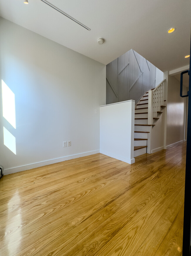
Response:
[[[191,40],[190,40],[191,41]],[[190,43],[191,46],[191,43]],[[191,47],[190,47],[191,55]],[[191,66],[191,57],[190,57]],[[185,175],[185,198],[184,198],[184,227],[182,256],[190,256],[191,241],[191,73],[189,76],[188,97],[188,126],[187,126],[187,147],[186,147],[186,175]]]

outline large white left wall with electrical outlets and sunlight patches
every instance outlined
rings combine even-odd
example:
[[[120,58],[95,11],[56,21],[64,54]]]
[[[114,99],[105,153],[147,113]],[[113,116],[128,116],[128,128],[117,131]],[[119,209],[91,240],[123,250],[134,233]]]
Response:
[[[2,18],[0,35],[0,79],[16,101],[15,129],[2,117],[0,97],[4,174],[97,153],[105,65]],[[16,138],[16,155],[4,146],[3,126]]]

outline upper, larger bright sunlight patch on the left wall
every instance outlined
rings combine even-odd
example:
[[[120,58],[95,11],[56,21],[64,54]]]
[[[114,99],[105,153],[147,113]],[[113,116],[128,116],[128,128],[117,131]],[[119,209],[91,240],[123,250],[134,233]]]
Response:
[[[15,94],[2,82],[3,117],[16,129]]]

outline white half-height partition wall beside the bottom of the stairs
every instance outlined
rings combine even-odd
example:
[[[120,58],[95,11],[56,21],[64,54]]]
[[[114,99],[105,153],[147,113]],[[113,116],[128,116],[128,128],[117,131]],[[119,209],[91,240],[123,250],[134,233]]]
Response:
[[[100,107],[100,153],[133,164],[135,101]]]

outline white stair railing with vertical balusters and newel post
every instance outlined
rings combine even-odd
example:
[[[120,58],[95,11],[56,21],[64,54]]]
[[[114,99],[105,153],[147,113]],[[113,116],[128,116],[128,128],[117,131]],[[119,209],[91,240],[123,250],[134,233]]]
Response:
[[[148,124],[153,124],[153,118],[157,118],[160,106],[164,105],[166,78],[148,93]]]

